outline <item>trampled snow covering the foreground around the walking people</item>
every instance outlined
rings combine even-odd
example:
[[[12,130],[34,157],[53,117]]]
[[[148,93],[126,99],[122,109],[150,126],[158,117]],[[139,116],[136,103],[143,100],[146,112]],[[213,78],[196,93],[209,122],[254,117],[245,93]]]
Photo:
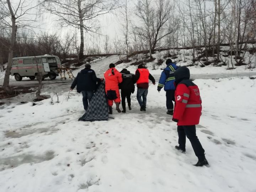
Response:
[[[174,149],[176,123],[165,92],[150,84],[146,112],[78,122],[75,91],[37,102],[0,106],[1,192],[255,192],[256,80],[194,80],[203,114],[197,135],[210,167],[195,167],[193,149]],[[136,91],[135,91],[136,92]],[[46,93],[46,94],[50,94]],[[18,104],[18,105],[17,105]]]

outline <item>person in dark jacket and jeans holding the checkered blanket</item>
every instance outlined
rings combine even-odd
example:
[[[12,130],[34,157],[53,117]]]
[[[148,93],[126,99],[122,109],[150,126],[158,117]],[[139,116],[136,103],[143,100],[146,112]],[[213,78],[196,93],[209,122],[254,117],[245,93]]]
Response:
[[[94,70],[91,69],[90,64],[85,65],[85,69],[81,70],[76,76],[74,82],[72,83],[70,90],[72,91],[75,86],[77,92],[82,92],[83,95],[83,105],[84,110],[88,108],[88,103],[90,103],[94,91],[97,89],[97,82],[103,81],[103,78],[97,78]]]

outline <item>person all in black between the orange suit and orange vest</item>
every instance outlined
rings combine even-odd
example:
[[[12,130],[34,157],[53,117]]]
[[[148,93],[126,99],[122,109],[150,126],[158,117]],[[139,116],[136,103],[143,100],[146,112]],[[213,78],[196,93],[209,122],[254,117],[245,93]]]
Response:
[[[122,101],[122,107],[123,107],[122,113],[126,113],[126,102],[125,102],[126,99],[127,99],[129,110],[132,110],[130,96],[135,91],[134,84],[136,80],[135,80],[135,75],[131,74],[130,71],[128,71],[127,69],[123,69],[121,71],[121,74],[122,74],[123,81],[121,82],[121,84],[119,84],[119,88],[121,89],[121,101]]]

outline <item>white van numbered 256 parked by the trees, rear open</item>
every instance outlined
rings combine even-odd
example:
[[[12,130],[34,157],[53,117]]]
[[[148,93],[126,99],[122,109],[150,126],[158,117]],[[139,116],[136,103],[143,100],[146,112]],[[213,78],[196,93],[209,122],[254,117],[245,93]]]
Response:
[[[12,58],[11,75],[16,81],[21,81],[23,77],[33,80],[37,77],[37,67],[42,72],[42,80],[47,77],[55,79],[59,76],[57,69],[61,67],[60,59],[54,55],[15,57]]]

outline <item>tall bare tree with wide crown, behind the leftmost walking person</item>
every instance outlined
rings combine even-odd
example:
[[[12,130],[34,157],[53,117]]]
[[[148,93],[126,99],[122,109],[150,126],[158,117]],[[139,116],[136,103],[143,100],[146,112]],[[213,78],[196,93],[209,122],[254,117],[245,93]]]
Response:
[[[44,8],[59,17],[62,26],[80,30],[79,59],[84,56],[84,30],[96,32],[97,18],[117,7],[115,0],[47,0]]]

